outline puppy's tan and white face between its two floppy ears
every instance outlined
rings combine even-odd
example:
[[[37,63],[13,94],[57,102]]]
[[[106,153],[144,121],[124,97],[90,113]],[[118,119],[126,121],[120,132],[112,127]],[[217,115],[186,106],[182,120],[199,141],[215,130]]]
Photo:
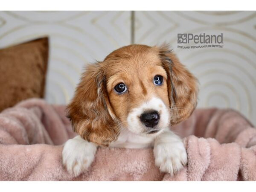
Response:
[[[167,74],[156,49],[126,47],[105,61],[110,103],[122,128],[156,134],[170,123]]]

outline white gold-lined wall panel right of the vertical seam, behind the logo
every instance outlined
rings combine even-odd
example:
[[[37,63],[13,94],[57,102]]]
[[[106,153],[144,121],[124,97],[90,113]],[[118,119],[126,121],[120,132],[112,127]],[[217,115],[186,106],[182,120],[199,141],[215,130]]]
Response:
[[[198,77],[198,107],[226,105],[256,124],[255,11],[137,11],[135,23],[136,44],[171,44]],[[223,48],[179,49],[178,33],[223,33]]]

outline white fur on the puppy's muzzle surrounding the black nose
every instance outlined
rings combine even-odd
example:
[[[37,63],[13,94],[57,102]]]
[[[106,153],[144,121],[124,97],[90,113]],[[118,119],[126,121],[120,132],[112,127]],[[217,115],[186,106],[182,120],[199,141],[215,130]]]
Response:
[[[169,111],[164,102],[156,97],[152,97],[150,100],[143,103],[140,107],[132,109],[128,114],[128,129],[137,134],[141,134],[145,131],[145,126],[140,122],[140,116],[147,110],[155,110],[160,114],[160,120],[157,124],[158,129],[163,129],[169,125]]]

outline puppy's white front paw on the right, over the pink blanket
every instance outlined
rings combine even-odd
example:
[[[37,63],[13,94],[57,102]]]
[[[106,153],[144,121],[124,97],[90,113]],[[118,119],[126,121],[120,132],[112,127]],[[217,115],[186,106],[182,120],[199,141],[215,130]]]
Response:
[[[170,175],[177,173],[187,163],[186,149],[183,143],[159,143],[154,146],[155,164],[161,172]]]

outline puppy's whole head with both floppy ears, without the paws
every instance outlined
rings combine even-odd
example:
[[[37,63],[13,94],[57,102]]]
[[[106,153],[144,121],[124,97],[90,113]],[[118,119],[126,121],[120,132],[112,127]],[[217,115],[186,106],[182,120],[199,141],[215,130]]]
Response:
[[[108,145],[120,129],[156,135],[190,116],[197,79],[167,46],[130,45],[87,66],[67,110],[85,140]]]

